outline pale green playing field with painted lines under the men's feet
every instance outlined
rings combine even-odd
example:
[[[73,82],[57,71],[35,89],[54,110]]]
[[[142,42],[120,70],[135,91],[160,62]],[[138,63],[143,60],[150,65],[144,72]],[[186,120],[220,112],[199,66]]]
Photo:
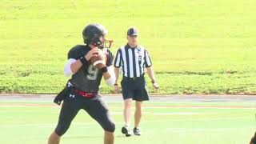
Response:
[[[146,102],[142,136],[121,134],[122,103],[110,102],[116,143],[246,144],[254,134],[255,104],[248,102]],[[46,143],[60,107],[52,102],[1,101],[0,143]],[[62,138],[68,143],[102,143],[102,128],[80,110]]]

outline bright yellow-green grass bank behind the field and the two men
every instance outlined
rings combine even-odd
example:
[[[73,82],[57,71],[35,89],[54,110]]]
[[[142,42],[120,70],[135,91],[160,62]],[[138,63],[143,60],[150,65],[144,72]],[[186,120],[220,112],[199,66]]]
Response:
[[[256,2],[6,1],[0,2],[0,92],[58,93],[63,65],[82,29],[100,22],[126,43],[136,26],[149,50],[161,94],[255,94]],[[152,92],[152,86],[149,86]],[[102,93],[111,89],[102,85]]]

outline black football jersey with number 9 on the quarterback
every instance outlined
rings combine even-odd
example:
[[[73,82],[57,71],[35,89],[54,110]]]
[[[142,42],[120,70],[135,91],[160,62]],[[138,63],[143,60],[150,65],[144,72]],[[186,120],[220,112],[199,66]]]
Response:
[[[85,56],[90,50],[90,47],[86,45],[74,46],[68,53],[68,59],[74,58],[78,60],[82,56]],[[114,55],[108,49],[103,50],[106,52],[106,66],[111,66]],[[78,90],[97,93],[102,80],[102,75],[102,70],[98,70],[98,68],[88,62],[87,66],[82,66],[72,75],[70,82]]]

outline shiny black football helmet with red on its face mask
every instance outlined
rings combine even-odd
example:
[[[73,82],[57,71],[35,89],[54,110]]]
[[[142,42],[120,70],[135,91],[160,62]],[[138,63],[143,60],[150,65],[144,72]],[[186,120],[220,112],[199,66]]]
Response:
[[[93,23],[84,28],[82,30],[82,38],[83,41],[87,45],[94,45],[98,46],[99,48],[104,48],[105,47],[105,36],[107,34],[107,30],[104,26],[98,24],[98,23]],[[103,37],[101,40],[100,37]],[[106,41],[108,42],[108,41]]]

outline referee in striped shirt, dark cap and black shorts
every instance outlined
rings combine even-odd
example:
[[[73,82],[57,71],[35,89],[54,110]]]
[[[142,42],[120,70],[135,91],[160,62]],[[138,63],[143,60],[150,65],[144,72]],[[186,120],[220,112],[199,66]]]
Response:
[[[130,137],[130,107],[132,100],[136,101],[134,114],[135,135],[141,135],[138,126],[142,118],[142,101],[149,100],[144,78],[145,67],[155,90],[158,90],[158,84],[154,78],[150,55],[143,46],[138,46],[138,31],[134,27],[131,27],[127,31],[127,40],[128,43],[126,46],[121,46],[118,49],[114,60],[114,73],[116,75],[114,91],[115,93],[120,91],[117,82],[121,67],[122,98],[124,99],[123,116],[125,121],[125,125],[122,127],[122,134],[126,134],[126,137]]]

